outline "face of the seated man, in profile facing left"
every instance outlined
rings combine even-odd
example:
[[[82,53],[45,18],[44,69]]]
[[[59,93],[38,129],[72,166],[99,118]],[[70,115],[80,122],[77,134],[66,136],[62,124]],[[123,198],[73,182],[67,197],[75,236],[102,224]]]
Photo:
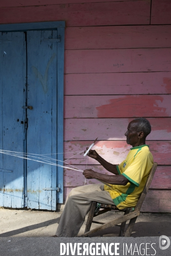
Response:
[[[127,137],[127,144],[130,144],[132,146],[139,141],[139,131],[137,125],[137,121],[131,121],[128,125],[127,132],[125,132],[125,136]]]

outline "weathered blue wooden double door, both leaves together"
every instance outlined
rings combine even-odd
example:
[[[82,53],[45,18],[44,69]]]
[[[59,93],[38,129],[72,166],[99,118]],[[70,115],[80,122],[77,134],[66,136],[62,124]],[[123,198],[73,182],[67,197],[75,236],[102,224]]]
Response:
[[[63,148],[62,141],[57,147],[63,100],[57,102],[57,30],[3,33],[0,54],[0,149],[56,159]],[[0,206],[55,210],[57,191],[49,188],[57,188],[56,166],[0,154]],[[62,202],[62,189],[59,194]]]

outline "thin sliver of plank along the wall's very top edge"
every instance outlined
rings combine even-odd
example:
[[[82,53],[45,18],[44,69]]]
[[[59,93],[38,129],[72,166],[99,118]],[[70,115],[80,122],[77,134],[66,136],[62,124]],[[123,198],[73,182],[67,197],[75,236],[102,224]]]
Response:
[[[119,0],[119,1],[130,1],[130,0]],[[137,0],[131,0],[137,1]],[[22,0],[20,3],[17,0],[6,0],[0,1],[0,7],[17,7],[17,6],[42,6],[42,5],[56,5],[66,3],[96,3],[96,2],[118,2],[118,0]]]

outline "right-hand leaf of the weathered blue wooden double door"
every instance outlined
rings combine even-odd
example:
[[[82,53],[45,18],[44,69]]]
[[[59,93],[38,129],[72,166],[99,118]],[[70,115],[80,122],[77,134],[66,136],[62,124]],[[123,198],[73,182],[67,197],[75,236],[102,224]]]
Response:
[[[51,154],[57,151],[57,31],[27,32],[27,152]],[[56,166],[27,160],[28,208],[56,209]]]

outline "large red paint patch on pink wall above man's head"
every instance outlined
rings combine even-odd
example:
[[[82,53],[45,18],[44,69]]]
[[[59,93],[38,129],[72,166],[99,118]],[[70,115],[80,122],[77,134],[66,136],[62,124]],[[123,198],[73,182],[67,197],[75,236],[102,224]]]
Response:
[[[141,116],[169,116],[168,103],[164,101],[164,96],[148,95],[127,95],[115,99],[109,99],[107,104],[96,107],[97,117],[128,117]]]

